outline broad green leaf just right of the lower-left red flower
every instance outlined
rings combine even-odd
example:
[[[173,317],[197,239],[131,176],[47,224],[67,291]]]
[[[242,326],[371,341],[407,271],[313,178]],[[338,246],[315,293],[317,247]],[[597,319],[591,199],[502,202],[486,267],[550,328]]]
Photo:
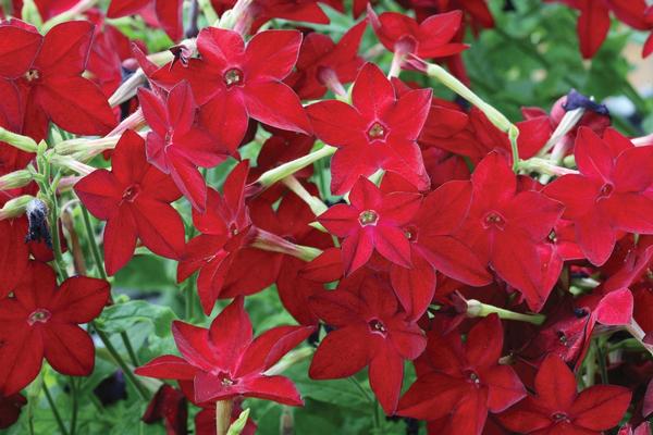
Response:
[[[170,333],[170,324],[176,315],[168,307],[157,306],[145,300],[131,300],[107,307],[96,321],[106,333],[122,333],[139,322],[148,322],[155,326],[155,334],[165,337]]]

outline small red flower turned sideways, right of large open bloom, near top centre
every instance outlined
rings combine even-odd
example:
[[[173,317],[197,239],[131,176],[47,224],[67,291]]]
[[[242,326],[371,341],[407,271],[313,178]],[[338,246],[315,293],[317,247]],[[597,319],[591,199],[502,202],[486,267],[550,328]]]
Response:
[[[358,46],[366,26],[365,21],[358,23],[337,44],[317,32],[304,38],[297,71],[286,78],[286,83],[297,91],[299,98],[318,99],[328,89],[347,94],[343,84],[354,82],[364,63],[358,55]]]

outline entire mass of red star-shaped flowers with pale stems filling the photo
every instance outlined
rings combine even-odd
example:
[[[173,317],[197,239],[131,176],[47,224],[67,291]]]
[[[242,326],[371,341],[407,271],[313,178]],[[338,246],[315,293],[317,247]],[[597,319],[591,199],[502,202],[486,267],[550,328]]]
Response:
[[[643,0],[563,2],[584,58],[611,14],[653,28]],[[650,136],[576,90],[515,123],[481,99],[460,54],[466,29],[494,26],[482,0],[355,0],[365,16],[337,40],[288,24],[328,24],[315,0],[184,3],[3,11],[0,427],[42,386],[74,433],[48,370],[88,376],[97,357],[170,434],[188,402],[198,434],[254,433],[252,398],[303,406],[291,365],[317,388],[356,376],[432,434],[648,430]],[[176,45],[131,45],[134,14]],[[147,302],[118,283],[147,279],[141,256],[173,264],[186,315],[134,349],[130,326],[153,314],[121,312]],[[245,307],[263,290],[295,325],[258,331]]]

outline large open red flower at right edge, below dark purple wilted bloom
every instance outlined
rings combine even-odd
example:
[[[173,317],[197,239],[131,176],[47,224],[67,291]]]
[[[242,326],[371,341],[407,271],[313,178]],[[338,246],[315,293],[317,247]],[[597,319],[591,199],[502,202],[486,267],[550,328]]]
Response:
[[[653,147],[634,147],[608,128],[603,139],[588,127],[576,139],[580,174],[564,175],[542,190],[565,204],[584,256],[601,265],[608,259],[619,231],[653,234]]]

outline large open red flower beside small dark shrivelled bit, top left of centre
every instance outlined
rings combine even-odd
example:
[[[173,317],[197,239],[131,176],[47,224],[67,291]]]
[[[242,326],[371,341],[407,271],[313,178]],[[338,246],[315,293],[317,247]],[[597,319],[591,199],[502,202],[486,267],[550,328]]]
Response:
[[[295,92],[282,80],[291,73],[301,44],[296,30],[258,33],[245,47],[232,30],[204,28],[197,38],[200,59],[158,70],[152,79],[168,88],[187,79],[201,119],[213,136],[235,150],[248,120],[299,133],[310,133],[306,112]],[[206,105],[205,105],[206,104]]]

